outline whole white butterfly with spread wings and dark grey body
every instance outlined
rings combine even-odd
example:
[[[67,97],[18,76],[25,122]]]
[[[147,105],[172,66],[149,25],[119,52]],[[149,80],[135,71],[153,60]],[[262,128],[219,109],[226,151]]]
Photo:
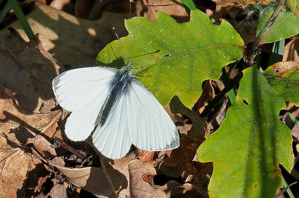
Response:
[[[72,113],[65,135],[92,142],[111,159],[125,156],[131,145],[146,151],[179,147],[179,132],[155,96],[132,74],[129,61],[121,69],[85,67],[53,79],[60,106]]]

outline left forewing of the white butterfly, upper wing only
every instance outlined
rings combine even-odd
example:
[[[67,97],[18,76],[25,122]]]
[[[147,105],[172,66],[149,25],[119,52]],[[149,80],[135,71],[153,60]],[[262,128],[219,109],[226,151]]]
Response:
[[[76,111],[96,98],[105,101],[110,91],[109,81],[116,73],[117,69],[111,67],[68,70],[53,79],[53,91],[62,108]]]

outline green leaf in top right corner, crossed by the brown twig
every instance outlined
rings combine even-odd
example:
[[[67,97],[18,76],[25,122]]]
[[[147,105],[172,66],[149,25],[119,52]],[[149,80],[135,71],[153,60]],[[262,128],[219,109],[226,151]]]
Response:
[[[273,8],[269,7],[262,15],[262,19],[257,26],[257,35],[260,33],[266,22],[270,19]],[[291,11],[280,12],[275,22],[269,27],[265,36],[261,39],[260,45],[272,43],[280,39],[286,39],[299,33],[299,18]]]

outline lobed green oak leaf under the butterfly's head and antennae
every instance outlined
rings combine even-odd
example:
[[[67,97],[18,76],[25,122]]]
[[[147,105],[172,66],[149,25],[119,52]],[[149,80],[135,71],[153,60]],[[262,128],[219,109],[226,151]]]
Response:
[[[138,79],[165,107],[178,94],[191,108],[202,93],[202,82],[216,80],[221,68],[243,56],[243,40],[226,21],[220,25],[208,16],[191,10],[190,21],[177,23],[169,15],[158,12],[155,22],[144,17],[125,21],[128,36],[120,39],[126,56],[133,65],[133,74],[149,76]],[[118,41],[108,44],[97,56],[103,66],[122,67],[126,61]]]

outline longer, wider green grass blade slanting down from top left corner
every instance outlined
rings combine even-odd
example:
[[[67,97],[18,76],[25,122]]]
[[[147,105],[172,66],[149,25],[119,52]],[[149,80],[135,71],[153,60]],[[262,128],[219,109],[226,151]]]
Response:
[[[20,24],[22,25],[26,35],[28,36],[30,41],[36,41],[34,33],[24,15],[22,12],[21,7],[19,6],[18,2],[16,0],[7,0],[7,2],[10,4],[10,7],[13,9],[16,17],[18,18]]]

